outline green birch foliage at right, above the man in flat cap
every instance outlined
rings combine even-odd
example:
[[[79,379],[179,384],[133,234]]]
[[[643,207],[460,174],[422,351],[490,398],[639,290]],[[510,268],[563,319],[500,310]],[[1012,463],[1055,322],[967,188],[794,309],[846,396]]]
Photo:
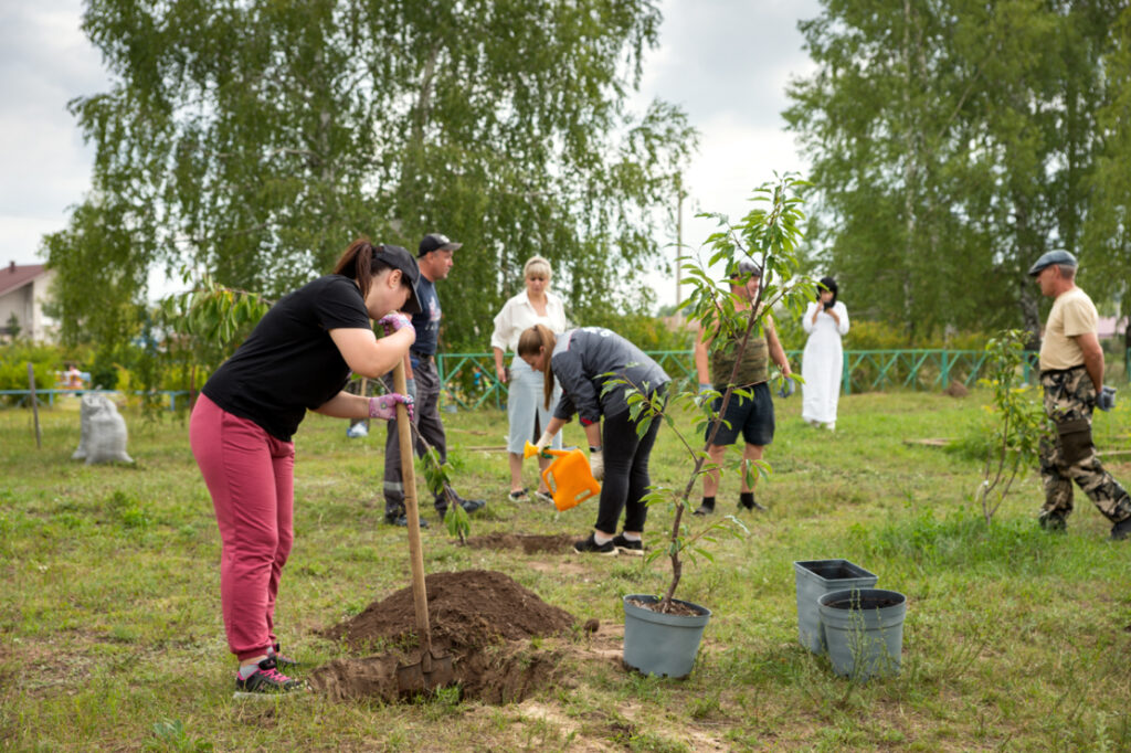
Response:
[[[909,341],[948,326],[1035,335],[1033,260],[1064,246],[1098,261],[1088,184],[1125,0],[822,6],[800,25],[817,72],[786,112],[820,187],[822,261]]]

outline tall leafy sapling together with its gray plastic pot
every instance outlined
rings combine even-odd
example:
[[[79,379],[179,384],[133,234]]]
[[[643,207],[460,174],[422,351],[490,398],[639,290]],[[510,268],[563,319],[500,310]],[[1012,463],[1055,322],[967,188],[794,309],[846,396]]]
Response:
[[[639,419],[637,431],[641,435],[653,421],[667,424],[687,451],[690,466],[682,487],[653,485],[646,497],[649,505],[667,504],[673,511],[665,545],[654,548],[647,560],[667,557],[671,579],[666,589],[662,595],[629,594],[623,597],[624,663],[644,674],[683,677],[691,672],[711,613],[705,606],[675,598],[683,564],[698,557],[713,561],[708,545],[718,535],[741,537],[746,533],[745,526],[734,516],[692,530],[688,525],[688,500],[700,476],[722,470],[710,461],[707,451],[723,424],[728,403],[752,397],[750,390],[735,386],[746,348],[754,338],[763,336],[767,318],[775,305],[784,305],[800,317],[815,292],[813,282],[800,274],[797,257],[803,219],[797,191],[805,183],[789,175],[763,184],[756,191],[754,208],[734,225],[722,215],[700,215],[716,219],[722,230],[707,240],[709,257],[706,263],[694,260],[683,265],[692,293],[681,309],[706,331],[727,334],[729,347],[734,348],[734,366],[729,375],[715,375],[716,383],[726,376],[725,390],[709,390],[703,395],[681,391],[665,404],[663,398],[649,397],[648,390],[615,374],[610,374],[605,383],[605,389],[625,388],[631,417]],[[752,276],[750,271],[742,271],[750,269],[741,263],[744,261],[756,262],[762,269],[761,285],[749,301],[737,293]],[[727,279],[722,284],[717,284],[709,274],[709,269],[717,266],[726,270]],[[716,398],[720,398],[720,403],[718,410],[713,410]],[[672,416],[674,409],[701,416],[696,427],[697,432],[706,433],[701,447],[697,440],[684,436],[676,426]],[[740,460],[739,465],[751,486],[757,477],[765,477],[770,471],[770,467],[761,460],[749,464]]]

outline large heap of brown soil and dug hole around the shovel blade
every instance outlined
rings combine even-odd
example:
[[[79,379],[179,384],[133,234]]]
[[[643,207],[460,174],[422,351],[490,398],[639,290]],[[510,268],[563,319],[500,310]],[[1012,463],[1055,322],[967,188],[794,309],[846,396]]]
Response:
[[[556,678],[568,643],[535,648],[530,639],[564,634],[577,623],[573,615],[490,570],[433,573],[425,587],[433,652],[452,657],[465,699],[521,701]],[[412,588],[373,601],[323,634],[360,651],[380,647],[383,652],[317,667],[311,687],[337,699],[398,700],[397,666],[420,660],[415,632]]]

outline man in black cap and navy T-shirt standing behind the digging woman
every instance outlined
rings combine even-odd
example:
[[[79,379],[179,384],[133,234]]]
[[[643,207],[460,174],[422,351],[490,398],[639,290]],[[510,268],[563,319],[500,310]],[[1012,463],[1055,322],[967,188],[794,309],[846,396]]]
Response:
[[[413,396],[413,423],[421,438],[440,456],[440,462],[448,459],[448,442],[440,419],[440,373],[435,366],[435,353],[439,346],[440,297],[435,293],[435,283],[447,279],[455,265],[452,251],[463,243],[456,243],[447,235],[429,233],[421,240],[416,254],[420,265],[420,283],[416,292],[420,294],[421,311],[413,314],[413,329],[416,330],[416,341],[409,350],[412,366],[408,392]],[[387,380],[392,390],[391,378]],[[405,518],[405,486],[400,476],[400,441],[397,438],[397,422],[388,422],[389,434],[385,442],[385,518],[388,522],[407,525]],[[424,445],[416,443],[417,455],[424,455]],[[483,500],[465,500],[450,486],[433,488],[435,511],[441,520],[448,511],[448,500],[458,502],[468,512],[475,512],[484,504]]]

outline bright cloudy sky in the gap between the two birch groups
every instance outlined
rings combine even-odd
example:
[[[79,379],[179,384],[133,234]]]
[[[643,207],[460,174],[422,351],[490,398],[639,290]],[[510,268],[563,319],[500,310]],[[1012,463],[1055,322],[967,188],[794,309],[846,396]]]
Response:
[[[700,147],[684,175],[683,244],[697,251],[715,220],[699,211],[737,220],[750,210],[753,189],[779,174],[805,175],[782,111],[786,85],[814,66],[803,50],[797,21],[820,12],[819,0],[667,0],[659,47],[645,61],[640,99],[680,105],[700,131]],[[662,239],[675,259],[675,239]],[[688,252],[688,251],[685,251]],[[650,272],[658,302],[675,302],[671,275]]]

